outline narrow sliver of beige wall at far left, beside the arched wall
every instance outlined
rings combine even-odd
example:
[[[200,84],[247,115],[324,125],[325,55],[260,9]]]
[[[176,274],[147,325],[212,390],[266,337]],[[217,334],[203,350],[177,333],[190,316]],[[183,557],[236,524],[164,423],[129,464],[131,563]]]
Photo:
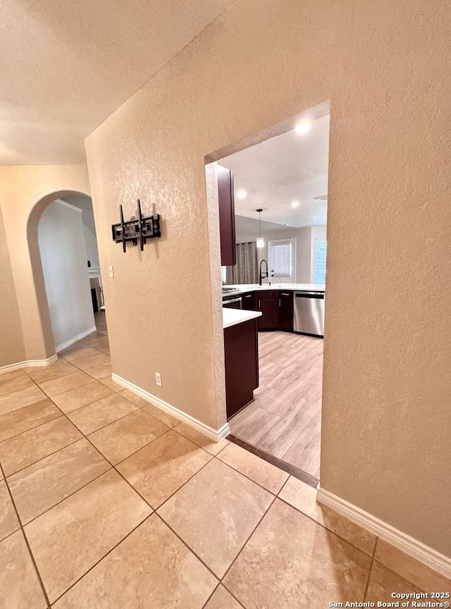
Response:
[[[24,360],[22,322],[0,208],[0,368]]]

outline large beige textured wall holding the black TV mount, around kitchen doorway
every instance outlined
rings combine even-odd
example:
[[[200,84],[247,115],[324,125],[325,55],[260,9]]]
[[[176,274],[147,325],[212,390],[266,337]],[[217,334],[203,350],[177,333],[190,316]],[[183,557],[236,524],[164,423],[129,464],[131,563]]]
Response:
[[[451,555],[449,10],[237,1],[87,154],[113,370],[214,425],[204,155],[330,99],[321,485]],[[123,254],[137,197],[163,238]]]

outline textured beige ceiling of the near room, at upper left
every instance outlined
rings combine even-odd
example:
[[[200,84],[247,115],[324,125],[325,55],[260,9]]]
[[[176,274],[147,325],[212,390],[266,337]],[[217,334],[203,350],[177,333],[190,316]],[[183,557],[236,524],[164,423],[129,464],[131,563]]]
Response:
[[[233,0],[2,0],[0,165],[85,162],[84,140]]]

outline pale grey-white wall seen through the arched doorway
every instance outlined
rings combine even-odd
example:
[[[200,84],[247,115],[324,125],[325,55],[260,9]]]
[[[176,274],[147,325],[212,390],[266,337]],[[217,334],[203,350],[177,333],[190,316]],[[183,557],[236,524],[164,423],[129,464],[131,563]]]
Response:
[[[56,348],[95,326],[82,210],[54,201],[38,226],[39,252]]]

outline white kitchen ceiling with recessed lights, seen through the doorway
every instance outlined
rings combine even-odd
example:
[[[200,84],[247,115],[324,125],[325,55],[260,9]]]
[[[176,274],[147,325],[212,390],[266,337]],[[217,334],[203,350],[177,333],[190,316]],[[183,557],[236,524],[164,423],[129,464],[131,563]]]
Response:
[[[304,113],[308,133],[290,130],[218,161],[233,171],[235,214],[288,226],[326,224],[329,114]],[[238,197],[243,189],[245,199]],[[326,196],[325,200],[314,197]],[[292,202],[299,207],[293,208]]]

